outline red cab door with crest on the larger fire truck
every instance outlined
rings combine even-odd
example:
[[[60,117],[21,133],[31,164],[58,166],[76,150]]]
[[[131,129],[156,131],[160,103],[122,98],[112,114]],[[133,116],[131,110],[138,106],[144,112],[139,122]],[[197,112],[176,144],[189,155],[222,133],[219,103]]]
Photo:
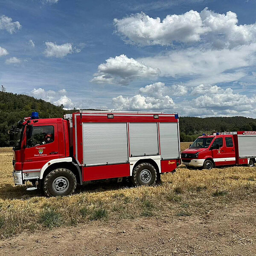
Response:
[[[57,124],[28,125],[26,145],[22,150],[23,170],[38,171],[49,160],[59,158]]]

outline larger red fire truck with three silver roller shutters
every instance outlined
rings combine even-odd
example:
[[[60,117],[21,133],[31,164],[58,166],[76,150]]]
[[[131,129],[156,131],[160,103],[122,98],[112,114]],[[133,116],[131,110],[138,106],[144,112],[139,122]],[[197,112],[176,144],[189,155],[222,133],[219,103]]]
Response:
[[[70,195],[88,180],[131,177],[153,185],[180,165],[176,113],[79,111],[64,118],[19,122],[15,134],[16,185],[31,181],[48,196]]]

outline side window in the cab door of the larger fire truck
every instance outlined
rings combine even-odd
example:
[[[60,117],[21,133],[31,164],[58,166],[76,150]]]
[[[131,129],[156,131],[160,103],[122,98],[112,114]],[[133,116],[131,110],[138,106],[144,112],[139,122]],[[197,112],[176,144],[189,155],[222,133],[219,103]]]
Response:
[[[53,126],[29,126],[27,129],[27,147],[44,145],[54,141]]]

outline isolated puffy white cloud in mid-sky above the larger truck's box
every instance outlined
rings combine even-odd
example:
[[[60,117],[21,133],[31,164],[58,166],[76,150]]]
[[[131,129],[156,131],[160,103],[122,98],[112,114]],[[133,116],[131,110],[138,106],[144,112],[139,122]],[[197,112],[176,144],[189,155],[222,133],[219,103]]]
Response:
[[[98,72],[93,76],[92,82],[108,84],[128,84],[134,79],[157,77],[158,68],[147,66],[143,61],[136,61],[122,54],[115,58],[108,58],[106,63],[98,66]]]

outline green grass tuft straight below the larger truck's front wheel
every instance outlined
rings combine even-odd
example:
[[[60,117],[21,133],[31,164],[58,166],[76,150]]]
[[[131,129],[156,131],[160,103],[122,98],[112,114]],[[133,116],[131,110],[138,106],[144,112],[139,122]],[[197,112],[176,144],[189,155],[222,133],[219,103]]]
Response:
[[[44,209],[40,216],[40,222],[49,228],[60,227],[62,223],[61,213],[56,212],[55,209]]]

